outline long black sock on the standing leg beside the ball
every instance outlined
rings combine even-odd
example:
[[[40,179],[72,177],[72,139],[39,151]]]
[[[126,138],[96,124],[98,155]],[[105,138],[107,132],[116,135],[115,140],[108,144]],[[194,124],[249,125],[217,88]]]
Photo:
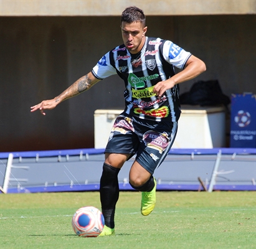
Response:
[[[115,227],[115,206],[119,198],[119,185],[117,169],[104,162],[102,177],[100,178],[100,202],[102,203],[102,214],[105,225],[110,228]]]

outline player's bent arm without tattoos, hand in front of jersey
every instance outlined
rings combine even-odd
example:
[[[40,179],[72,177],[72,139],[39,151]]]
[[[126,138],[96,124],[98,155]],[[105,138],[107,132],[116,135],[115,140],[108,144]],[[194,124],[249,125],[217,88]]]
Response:
[[[158,95],[158,98],[161,98],[166,90],[179,83],[192,80],[204,71],[206,71],[206,64],[196,56],[191,55],[185,64],[184,70],[164,82],[158,82],[154,86],[154,93]]]

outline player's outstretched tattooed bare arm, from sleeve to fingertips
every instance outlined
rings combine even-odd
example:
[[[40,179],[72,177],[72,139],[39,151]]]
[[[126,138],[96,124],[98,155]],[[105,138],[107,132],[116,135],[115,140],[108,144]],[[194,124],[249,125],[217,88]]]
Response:
[[[72,98],[77,96],[78,94],[87,91],[93,85],[95,85],[100,80],[93,76],[92,72],[87,73],[87,75],[79,78],[76,82],[74,82],[69,88],[67,88],[64,92],[60,93],[59,96],[53,98],[52,100],[44,100],[41,103],[31,106],[31,112],[40,110],[42,115],[45,115],[44,110],[52,110],[59,103],[68,98]]]

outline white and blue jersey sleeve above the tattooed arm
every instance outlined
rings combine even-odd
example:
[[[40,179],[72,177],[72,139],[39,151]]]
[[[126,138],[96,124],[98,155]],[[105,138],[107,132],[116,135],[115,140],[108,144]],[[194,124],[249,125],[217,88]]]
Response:
[[[99,80],[116,74],[116,69],[110,63],[110,52],[103,55],[97,65],[92,69],[93,75]]]

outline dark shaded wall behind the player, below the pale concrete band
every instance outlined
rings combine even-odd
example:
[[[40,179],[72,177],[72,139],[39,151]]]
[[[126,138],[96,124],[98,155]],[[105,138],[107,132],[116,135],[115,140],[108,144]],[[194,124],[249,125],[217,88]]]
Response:
[[[93,147],[93,113],[122,108],[117,76],[48,111],[53,98],[121,44],[119,17],[0,17],[0,149]],[[148,35],[173,40],[206,62],[207,72],[181,84],[217,79],[226,95],[256,93],[255,15],[149,16]]]

